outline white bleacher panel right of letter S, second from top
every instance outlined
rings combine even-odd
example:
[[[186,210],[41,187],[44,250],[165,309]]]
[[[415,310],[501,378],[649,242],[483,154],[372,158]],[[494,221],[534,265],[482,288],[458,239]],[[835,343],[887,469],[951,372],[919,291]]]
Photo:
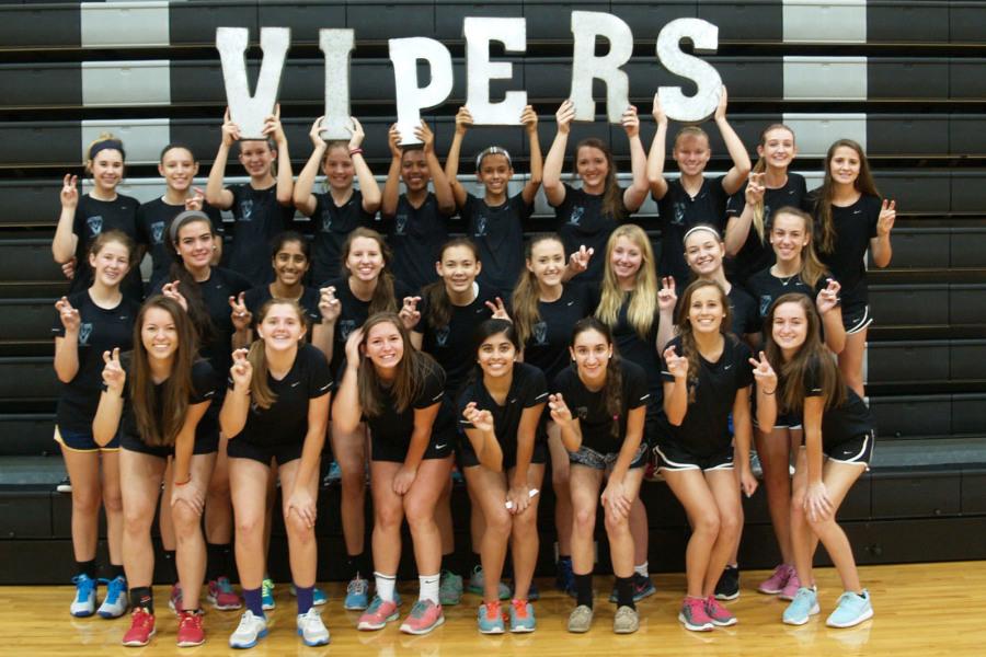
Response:
[[[786,101],[865,101],[865,57],[784,57]]]

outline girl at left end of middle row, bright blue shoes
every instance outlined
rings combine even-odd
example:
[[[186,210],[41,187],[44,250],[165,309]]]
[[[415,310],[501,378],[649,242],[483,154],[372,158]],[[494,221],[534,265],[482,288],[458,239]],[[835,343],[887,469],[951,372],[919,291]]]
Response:
[[[99,613],[114,619],[127,610],[127,580],[121,554],[119,440],[114,437],[104,447],[96,445],[92,416],[100,401],[103,351],[114,348],[128,351],[133,346],[139,307],[124,298],[119,286],[134,265],[135,255],[134,241],[125,233],[110,230],[99,234],[89,255],[92,287],[55,303],[58,311],[51,328],[55,372],[64,383],[55,441],[61,447],[72,482],[72,549],[77,575],[72,578],[76,598],[70,611],[74,616]],[[101,503],[106,509],[111,577],[106,597],[96,611],[95,555]]]

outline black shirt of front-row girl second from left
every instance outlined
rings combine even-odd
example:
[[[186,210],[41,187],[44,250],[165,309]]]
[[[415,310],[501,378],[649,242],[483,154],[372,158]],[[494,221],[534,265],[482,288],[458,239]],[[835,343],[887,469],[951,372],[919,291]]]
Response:
[[[232,379],[228,384],[232,390]],[[246,424],[230,440],[262,447],[303,442],[308,434],[309,400],[328,394],[333,385],[324,354],[309,344],[298,345],[298,355],[288,373],[278,381],[268,371],[267,384],[277,401],[270,408],[251,403]]]

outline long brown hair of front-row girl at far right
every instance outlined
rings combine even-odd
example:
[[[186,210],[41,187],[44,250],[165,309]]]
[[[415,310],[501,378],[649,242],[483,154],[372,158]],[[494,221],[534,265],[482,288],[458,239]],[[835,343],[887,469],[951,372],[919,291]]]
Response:
[[[807,334],[804,344],[791,360],[784,362],[783,354],[773,339],[773,314],[784,303],[795,303],[803,311],[807,322]],[[778,374],[777,395],[781,408],[786,412],[798,412],[804,407],[804,397],[809,392],[804,388],[804,380],[810,370],[817,370],[822,383],[822,395],[825,397],[825,407],[832,408],[846,401],[846,383],[839,374],[835,356],[822,342],[822,320],[815,310],[815,304],[804,295],[790,293],[778,297],[767,311],[764,321],[766,334],[767,360]]]

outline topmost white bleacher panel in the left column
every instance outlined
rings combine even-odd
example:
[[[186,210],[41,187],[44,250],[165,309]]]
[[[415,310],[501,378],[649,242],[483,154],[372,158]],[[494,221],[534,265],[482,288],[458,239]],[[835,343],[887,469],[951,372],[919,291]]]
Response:
[[[83,48],[171,45],[165,0],[82,2],[79,11]]]

